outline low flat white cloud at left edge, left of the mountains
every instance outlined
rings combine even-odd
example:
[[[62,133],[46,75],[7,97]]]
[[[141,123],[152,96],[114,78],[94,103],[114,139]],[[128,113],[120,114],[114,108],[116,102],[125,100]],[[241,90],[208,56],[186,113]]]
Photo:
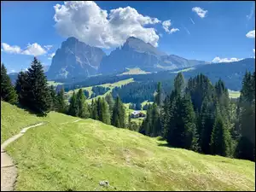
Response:
[[[21,55],[44,55],[47,51],[42,48],[40,44],[34,43],[34,44],[28,44],[26,49],[21,49],[20,46],[17,45],[9,45],[6,43],[2,44],[3,52],[9,53],[9,54],[21,54]]]

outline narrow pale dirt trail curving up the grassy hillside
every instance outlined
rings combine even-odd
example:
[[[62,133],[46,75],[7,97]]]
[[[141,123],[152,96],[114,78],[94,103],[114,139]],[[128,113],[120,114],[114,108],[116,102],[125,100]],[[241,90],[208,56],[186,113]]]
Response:
[[[71,123],[76,123],[79,120],[81,119],[74,120]],[[67,122],[67,123],[70,123],[70,122]],[[60,125],[67,124],[67,123],[62,123]],[[3,142],[3,144],[1,144],[1,191],[13,191],[15,189],[15,182],[18,175],[17,167],[15,166],[14,161],[9,156],[9,154],[6,153],[5,148],[10,143],[15,142],[15,140],[23,136],[27,130],[40,125],[44,125],[44,123],[39,123],[37,125],[25,127],[17,135],[10,137],[8,140]]]

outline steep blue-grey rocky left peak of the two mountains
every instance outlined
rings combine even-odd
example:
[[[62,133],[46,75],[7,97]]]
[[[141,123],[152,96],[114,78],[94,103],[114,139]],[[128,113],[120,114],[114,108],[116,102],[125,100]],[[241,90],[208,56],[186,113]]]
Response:
[[[77,38],[67,38],[56,50],[47,76],[50,79],[65,79],[95,75],[105,55],[100,48],[79,42]]]

